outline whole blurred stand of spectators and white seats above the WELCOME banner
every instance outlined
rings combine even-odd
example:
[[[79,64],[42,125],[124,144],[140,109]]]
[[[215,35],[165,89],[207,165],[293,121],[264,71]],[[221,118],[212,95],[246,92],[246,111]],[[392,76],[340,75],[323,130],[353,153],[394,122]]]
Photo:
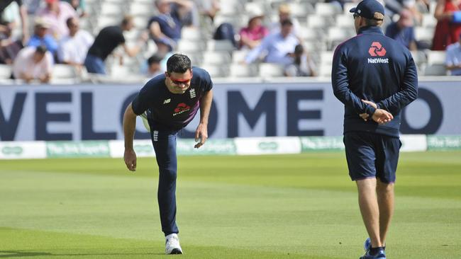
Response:
[[[0,83],[145,79],[175,52],[213,77],[328,77],[357,2],[1,0]],[[420,75],[461,75],[461,0],[380,2]]]

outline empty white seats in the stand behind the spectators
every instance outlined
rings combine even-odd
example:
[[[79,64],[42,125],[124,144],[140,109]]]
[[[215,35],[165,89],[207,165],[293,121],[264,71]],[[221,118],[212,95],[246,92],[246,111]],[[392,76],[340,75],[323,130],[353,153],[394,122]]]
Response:
[[[130,13],[135,17],[135,28],[125,33],[127,45],[134,45],[143,31],[149,18],[157,14],[152,0],[85,0],[88,16],[81,18],[81,28],[93,35],[99,33],[107,25],[120,23],[123,13]],[[318,70],[318,76],[331,75],[331,57],[335,47],[344,40],[355,35],[352,15],[349,9],[356,6],[355,2],[346,1],[343,8],[335,2],[324,0],[221,0],[221,9],[213,22],[209,18],[201,17],[199,27],[182,28],[182,38],[177,42],[174,52],[182,52],[191,57],[194,65],[209,70],[212,76],[219,77],[255,77],[255,76],[284,76],[284,69],[274,64],[259,63],[243,64],[248,50],[238,50],[228,40],[213,40],[214,30],[222,23],[233,25],[235,33],[246,26],[248,18],[255,13],[264,13],[263,24],[279,20],[277,8],[280,4],[288,4],[291,16],[301,25],[299,36],[303,40],[304,49],[313,59]],[[421,75],[445,75],[445,52],[432,52],[431,47],[434,28],[437,20],[433,13],[436,1],[431,0],[425,13],[422,13],[421,24],[415,27],[418,51],[414,51],[413,59]],[[29,21],[33,21],[33,14]],[[396,21],[398,16],[386,18],[386,24]],[[31,27],[32,28],[32,27]],[[238,40],[236,38],[235,40]],[[135,58],[123,56],[123,65],[116,59],[107,60],[108,76],[141,76],[140,67],[145,60],[157,52],[152,40],[143,47],[143,52]],[[0,66],[0,79],[9,79],[11,68],[9,65]],[[100,76],[99,76],[100,77]],[[99,78],[98,77],[98,78]],[[75,81],[89,81],[85,74],[72,71],[65,65],[57,65],[53,72],[56,80],[75,79]],[[91,81],[93,81],[91,79]],[[53,80],[55,81],[55,80]]]

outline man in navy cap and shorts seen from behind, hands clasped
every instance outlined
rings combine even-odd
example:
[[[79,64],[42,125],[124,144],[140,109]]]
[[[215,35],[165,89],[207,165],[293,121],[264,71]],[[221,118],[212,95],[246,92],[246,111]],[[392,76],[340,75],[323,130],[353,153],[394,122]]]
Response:
[[[349,175],[370,236],[361,259],[382,259],[394,212],[401,110],[417,98],[418,77],[409,50],[382,33],[384,7],[378,1],[361,1],[350,12],[357,36],[335,50],[332,84],[345,106]]]

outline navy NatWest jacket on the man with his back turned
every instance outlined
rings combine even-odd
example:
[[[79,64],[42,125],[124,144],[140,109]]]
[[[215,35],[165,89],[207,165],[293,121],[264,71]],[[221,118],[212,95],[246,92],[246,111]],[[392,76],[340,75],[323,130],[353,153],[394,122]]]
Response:
[[[401,110],[418,96],[418,75],[409,50],[376,26],[341,43],[333,56],[333,92],[345,106],[344,132],[365,131],[399,137]],[[394,120],[379,125],[360,113],[374,113],[362,100],[389,111]]]

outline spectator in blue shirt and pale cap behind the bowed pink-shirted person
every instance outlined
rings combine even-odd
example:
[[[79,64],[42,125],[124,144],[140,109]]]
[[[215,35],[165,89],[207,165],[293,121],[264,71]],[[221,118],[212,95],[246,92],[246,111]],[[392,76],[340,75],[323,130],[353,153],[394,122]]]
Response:
[[[53,38],[52,35],[48,33],[50,27],[50,23],[43,20],[42,18],[35,19],[33,35],[27,43],[27,46],[38,47],[44,45],[47,50],[51,52],[52,56],[55,57],[58,45],[55,38]]]

